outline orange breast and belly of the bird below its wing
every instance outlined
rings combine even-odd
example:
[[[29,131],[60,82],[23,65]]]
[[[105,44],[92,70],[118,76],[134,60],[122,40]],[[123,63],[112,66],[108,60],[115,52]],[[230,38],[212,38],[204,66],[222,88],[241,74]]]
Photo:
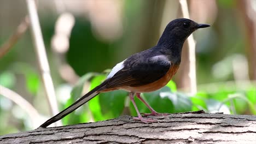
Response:
[[[164,87],[171,79],[174,74],[176,74],[177,70],[179,68],[179,65],[172,65],[172,67],[167,71],[166,75],[163,76],[161,79],[149,83],[144,86],[139,86],[139,87],[120,87],[119,89],[124,89],[125,91],[129,92],[136,92],[136,93],[143,93],[143,92],[153,92],[158,90],[161,87]]]

